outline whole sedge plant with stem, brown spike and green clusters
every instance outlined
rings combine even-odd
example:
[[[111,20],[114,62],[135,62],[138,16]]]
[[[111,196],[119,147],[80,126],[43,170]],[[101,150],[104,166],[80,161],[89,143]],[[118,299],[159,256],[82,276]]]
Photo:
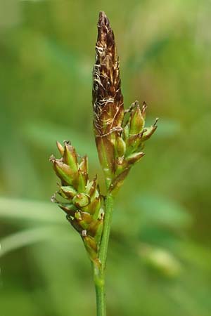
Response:
[[[88,158],[79,157],[69,141],[57,142],[60,159],[51,156],[60,183],[52,197],[79,232],[93,267],[96,314],[106,316],[105,270],[113,200],[129,170],[143,157],[143,145],[157,128],[145,127],[146,103],[124,110],[115,37],[104,12],[98,18],[93,70],[94,136],[106,182],[102,195],[97,176],[89,179]]]

